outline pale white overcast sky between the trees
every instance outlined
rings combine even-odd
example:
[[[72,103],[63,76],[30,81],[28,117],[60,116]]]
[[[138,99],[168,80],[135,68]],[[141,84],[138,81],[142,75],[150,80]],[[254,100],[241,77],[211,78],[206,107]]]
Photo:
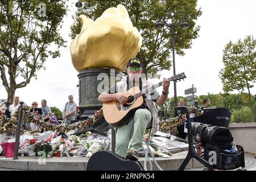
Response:
[[[76,1],[70,1],[76,2]],[[78,72],[73,68],[71,55],[69,53],[69,26],[71,15],[75,13],[73,4],[68,16],[64,19],[61,34],[68,40],[67,48],[61,48],[61,56],[57,59],[49,59],[46,63],[46,71],[38,72],[38,80],[32,79],[26,88],[17,89],[16,96],[20,97],[28,105],[32,101],[47,100],[49,106],[57,106],[63,109],[68,101],[69,94],[73,94],[78,104],[79,83]],[[223,92],[218,72],[223,68],[222,50],[229,40],[236,42],[238,38],[253,35],[256,38],[256,1],[234,1],[234,0],[199,0],[203,14],[197,20],[201,26],[200,37],[193,40],[191,49],[185,50],[185,56],[175,57],[176,73],[185,72],[187,78],[177,82],[177,95],[184,96],[184,90],[191,88],[192,84],[197,88],[197,95]],[[170,60],[172,61],[172,60]],[[173,75],[170,71],[162,71],[163,77]],[[152,82],[159,82],[154,79]],[[173,84],[170,86],[169,97],[173,97]],[[162,88],[158,89],[162,92]],[[236,93],[236,92],[235,92]],[[251,89],[256,94],[256,86]],[[7,98],[7,93],[0,80],[0,98]]]

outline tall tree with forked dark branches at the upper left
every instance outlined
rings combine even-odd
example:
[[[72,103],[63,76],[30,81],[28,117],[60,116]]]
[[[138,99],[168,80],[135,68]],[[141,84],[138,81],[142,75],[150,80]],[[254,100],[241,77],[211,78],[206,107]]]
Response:
[[[64,0],[0,1],[0,72],[9,103],[16,89],[27,86],[36,71],[45,69],[49,55],[60,56],[65,41],[59,30],[66,14]],[[50,44],[56,48],[47,49]]]

